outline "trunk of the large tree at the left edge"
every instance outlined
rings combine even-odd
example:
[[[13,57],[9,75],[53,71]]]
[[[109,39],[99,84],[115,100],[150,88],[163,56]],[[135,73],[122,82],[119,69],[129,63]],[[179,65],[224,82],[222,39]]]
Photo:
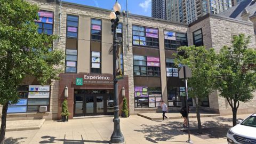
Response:
[[[0,144],[4,144],[4,139],[5,139],[7,108],[8,108],[8,103],[5,103],[5,105],[3,105],[3,110],[2,110],[2,124],[1,124],[1,130],[0,130]]]

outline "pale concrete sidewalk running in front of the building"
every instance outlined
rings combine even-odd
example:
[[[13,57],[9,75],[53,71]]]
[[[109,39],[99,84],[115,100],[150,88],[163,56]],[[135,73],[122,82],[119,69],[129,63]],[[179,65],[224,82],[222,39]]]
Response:
[[[238,115],[245,118],[247,115]],[[196,129],[196,118],[190,119],[191,129]],[[231,116],[204,117],[203,128],[218,127],[219,135],[196,137],[194,143],[227,143],[226,130],[231,127]],[[182,119],[150,121],[140,116],[121,118],[121,131],[126,143],[186,143],[188,134]],[[6,132],[6,143],[108,143],[113,132],[113,117],[70,119],[69,122],[45,121],[39,130]]]

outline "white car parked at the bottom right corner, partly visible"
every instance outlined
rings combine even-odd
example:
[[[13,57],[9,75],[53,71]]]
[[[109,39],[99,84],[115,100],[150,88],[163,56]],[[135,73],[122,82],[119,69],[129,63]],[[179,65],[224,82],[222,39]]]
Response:
[[[229,144],[256,144],[256,114],[252,114],[231,127],[227,133]]]

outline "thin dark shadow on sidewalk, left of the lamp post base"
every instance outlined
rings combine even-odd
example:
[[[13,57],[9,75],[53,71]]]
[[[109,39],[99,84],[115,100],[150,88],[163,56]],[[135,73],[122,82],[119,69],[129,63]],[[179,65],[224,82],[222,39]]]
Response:
[[[40,141],[39,143],[56,143],[57,141],[63,141],[63,144],[83,144],[83,143],[109,143],[109,141],[106,140],[84,140],[83,135],[81,135],[81,140],[68,140],[66,138],[66,134],[64,135],[64,139],[56,139],[56,137],[51,136],[43,136],[42,139],[48,139]]]

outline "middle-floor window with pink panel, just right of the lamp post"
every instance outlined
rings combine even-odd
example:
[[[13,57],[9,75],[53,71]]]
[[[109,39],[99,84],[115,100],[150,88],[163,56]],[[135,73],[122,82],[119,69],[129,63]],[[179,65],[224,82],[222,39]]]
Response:
[[[159,61],[159,57],[133,55],[133,74],[139,76],[160,76]]]

